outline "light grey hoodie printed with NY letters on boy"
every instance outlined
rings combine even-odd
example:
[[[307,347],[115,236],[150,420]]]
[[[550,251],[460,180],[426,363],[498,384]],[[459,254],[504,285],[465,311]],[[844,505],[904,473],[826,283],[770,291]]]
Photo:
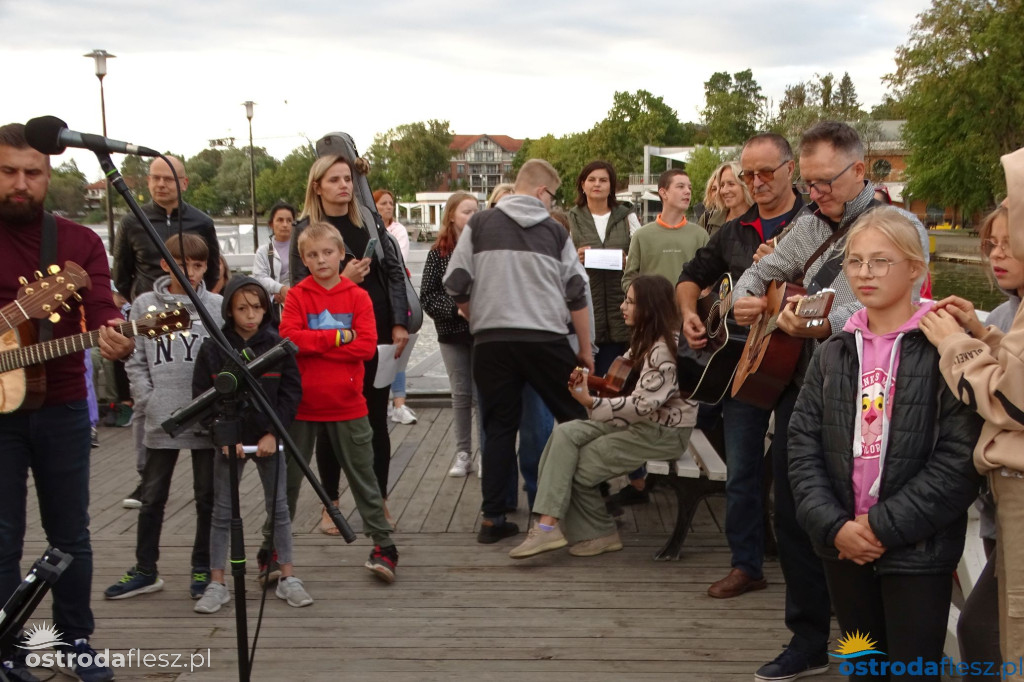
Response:
[[[153,291],[139,294],[132,302],[131,319],[138,319],[151,312],[159,312],[164,306],[174,307],[180,301],[185,304],[193,317],[193,328],[187,336],[174,334],[155,339],[139,339],[135,343],[135,354],[125,363],[125,371],[131,382],[132,399],[136,415],[145,419],[143,443],[146,447],[184,450],[209,447],[208,435],[196,435],[190,431],[172,438],[160,425],[171,413],[187,404],[193,398],[193,370],[200,345],[209,337],[203,321],[196,314],[188,297],[168,291],[170,275],[164,275],[153,284]],[[211,294],[206,285],[200,283],[197,290],[203,307],[209,311],[217,327],[223,325],[221,305],[223,298]]]

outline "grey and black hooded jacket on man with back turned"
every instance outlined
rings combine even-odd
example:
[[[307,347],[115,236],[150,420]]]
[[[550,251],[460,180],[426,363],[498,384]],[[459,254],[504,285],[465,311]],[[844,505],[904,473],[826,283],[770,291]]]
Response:
[[[539,199],[513,195],[469,220],[444,289],[469,301],[474,341],[546,341],[568,332],[566,308],[587,305],[587,281],[565,228]]]

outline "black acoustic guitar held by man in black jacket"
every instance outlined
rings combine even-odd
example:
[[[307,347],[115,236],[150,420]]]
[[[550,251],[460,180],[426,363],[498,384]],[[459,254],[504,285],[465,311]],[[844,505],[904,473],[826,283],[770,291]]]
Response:
[[[683,397],[714,404],[732,385],[746,342],[746,330],[729,318],[732,310],[732,276],[722,276],[718,286],[697,300],[697,315],[708,332],[703,348],[690,348],[680,332],[676,354],[679,392]]]

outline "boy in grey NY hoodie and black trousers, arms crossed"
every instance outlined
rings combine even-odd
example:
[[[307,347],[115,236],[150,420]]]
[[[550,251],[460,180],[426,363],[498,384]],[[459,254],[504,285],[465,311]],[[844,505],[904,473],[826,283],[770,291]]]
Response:
[[[166,246],[187,275],[214,323],[222,325],[223,299],[208,292],[203,283],[209,255],[206,241],[185,232],[181,240],[176,236],[167,240]],[[167,261],[161,260],[160,266],[165,272],[170,272]],[[163,309],[164,306],[175,307],[178,303],[185,304],[189,312],[195,313],[181,284],[173,276],[166,275],[154,283],[152,292],[140,294],[135,299],[131,318],[136,319],[146,314],[151,306]],[[202,321],[195,314],[193,316],[193,328],[188,335],[145,339],[137,344],[135,354],[125,364],[131,381],[132,397],[135,399],[135,418],[145,419],[143,442],[146,461],[142,470],[142,508],[138,515],[136,563],[120,581],[106,588],[103,595],[108,599],[125,599],[163,589],[164,581],[157,572],[160,531],[164,523],[164,506],[170,493],[174,465],[177,463],[178,451],[183,449],[191,450],[196,496],[196,541],[193,545],[189,587],[191,598],[202,597],[210,582],[210,521],[213,512],[213,450],[210,447],[210,439],[195,433],[183,433],[172,438],[160,427],[172,412],[187,404],[193,398],[193,371],[200,345],[208,337]]]

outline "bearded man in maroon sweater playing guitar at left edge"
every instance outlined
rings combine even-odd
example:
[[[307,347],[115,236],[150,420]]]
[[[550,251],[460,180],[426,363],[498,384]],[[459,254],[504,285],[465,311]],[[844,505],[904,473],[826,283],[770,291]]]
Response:
[[[49,157],[29,146],[25,126],[12,123],[0,127],[0,305],[16,298],[22,287],[18,276],[31,280],[34,270],[45,270],[50,263],[78,262],[91,280],[91,288],[80,291],[81,302],[69,298],[70,309],[61,310],[56,322],[27,325],[44,336],[50,334],[46,329],[49,325],[54,338],[70,336],[81,332],[84,312],[88,329],[99,330],[102,356],[124,357],[132,352],[134,342],[106,328],[124,321],[111,296],[103,244],[91,229],[44,214],[49,182]],[[89,666],[75,665],[81,679],[112,680],[113,672],[95,664],[95,652],[89,645],[93,631],[89,607],[90,438],[82,353],[47,361],[45,370],[43,406],[0,415],[0,601],[22,582],[19,563],[31,468],[46,540],[74,557],[53,586],[53,625],[70,647],[67,653],[90,654],[86,658],[92,660]],[[4,673],[11,679],[36,679],[25,668],[26,651],[18,651],[3,662]]]

